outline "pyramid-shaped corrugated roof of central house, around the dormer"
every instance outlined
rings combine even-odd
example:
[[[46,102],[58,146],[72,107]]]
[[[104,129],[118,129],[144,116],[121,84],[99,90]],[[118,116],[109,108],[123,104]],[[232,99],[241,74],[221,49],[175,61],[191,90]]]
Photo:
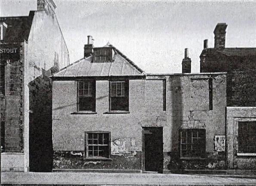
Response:
[[[53,77],[90,77],[90,76],[133,76],[145,75],[142,69],[123,55],[117,48],[113,61],[93,62],[93,56],[82,58],[53,74]]]

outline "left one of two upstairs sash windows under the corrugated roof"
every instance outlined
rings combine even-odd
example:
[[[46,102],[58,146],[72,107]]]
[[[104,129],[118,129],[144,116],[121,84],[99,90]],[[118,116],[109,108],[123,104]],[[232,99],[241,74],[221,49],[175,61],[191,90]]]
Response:
[[[77,111],[93,111],[96,108],[96,82],[77,82]]]

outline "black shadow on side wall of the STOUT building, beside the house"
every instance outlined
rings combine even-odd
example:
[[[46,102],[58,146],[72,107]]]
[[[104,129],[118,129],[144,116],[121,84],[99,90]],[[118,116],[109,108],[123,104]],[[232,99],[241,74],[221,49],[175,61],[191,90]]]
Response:
[[[52,81],[41,75],[29,83],[29,168],[32,172],[51,172]]]

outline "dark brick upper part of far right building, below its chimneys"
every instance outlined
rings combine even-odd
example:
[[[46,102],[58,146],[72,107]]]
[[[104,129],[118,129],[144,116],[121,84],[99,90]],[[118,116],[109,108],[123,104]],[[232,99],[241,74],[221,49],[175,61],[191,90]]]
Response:
[[[226,56],[210,48],[202,51],[200,72],[227,72],[227,106],[256,106],[256,57]]]

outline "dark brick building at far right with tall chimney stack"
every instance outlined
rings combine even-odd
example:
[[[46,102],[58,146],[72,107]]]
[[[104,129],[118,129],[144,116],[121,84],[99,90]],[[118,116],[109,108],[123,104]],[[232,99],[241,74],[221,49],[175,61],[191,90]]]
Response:
[[[225,48],[227,24],[214,30],[214,48],[200,55],[200,72],[227,72],[227,165],[256,169],[256,48]]]

